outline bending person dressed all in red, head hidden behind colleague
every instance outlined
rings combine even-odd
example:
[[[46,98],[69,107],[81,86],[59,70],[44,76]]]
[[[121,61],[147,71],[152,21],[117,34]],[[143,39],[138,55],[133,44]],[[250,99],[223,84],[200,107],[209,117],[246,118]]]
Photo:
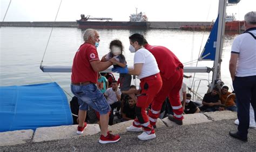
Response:
[[[171,50],[163,46],[151,46],[144,39],[144,45],[157,60],[163,86],[154,98],[151,111],[149,112],[150,123],[156,126],[157,118],[160,115],[161,107],[166,96],[169,97],[173,109],[173,115],[169,115],[171,121],[178,125],[183,124],[183,107],[180,102],[179,90],[183,82],[183,64]]]

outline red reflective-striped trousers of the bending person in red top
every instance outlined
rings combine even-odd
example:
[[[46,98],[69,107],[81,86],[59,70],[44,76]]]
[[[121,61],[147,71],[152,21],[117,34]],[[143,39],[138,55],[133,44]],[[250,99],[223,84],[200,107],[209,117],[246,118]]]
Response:
[[[173,109],[173,117],[177,120],[183,120],[183,107],[179,96],[179,91],[183,82],[183,69],[178,67],[174,73],[173,77],[169,79],[163,78],[163,86],[151,104],[149,119],[152,126],[156,125],[161,107],[167,96],[169,97]]]

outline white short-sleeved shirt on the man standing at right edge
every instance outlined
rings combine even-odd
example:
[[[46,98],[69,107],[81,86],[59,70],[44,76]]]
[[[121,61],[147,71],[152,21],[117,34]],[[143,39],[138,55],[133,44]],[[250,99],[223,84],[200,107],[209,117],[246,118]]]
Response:
[[[256,30],[249,31],[256,36]],[[256,40],[249,33],[238,35],[233,41],[231,53],[238,53],[235,76],[256,75]]]

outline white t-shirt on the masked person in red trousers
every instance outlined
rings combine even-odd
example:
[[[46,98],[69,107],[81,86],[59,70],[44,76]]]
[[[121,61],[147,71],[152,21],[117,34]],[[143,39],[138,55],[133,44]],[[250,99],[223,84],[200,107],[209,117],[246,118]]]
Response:
[[[159,73],[157,61],[153,54],[145,48],[140,48],[134,54],[134,64],[143,63],[139,79]]]

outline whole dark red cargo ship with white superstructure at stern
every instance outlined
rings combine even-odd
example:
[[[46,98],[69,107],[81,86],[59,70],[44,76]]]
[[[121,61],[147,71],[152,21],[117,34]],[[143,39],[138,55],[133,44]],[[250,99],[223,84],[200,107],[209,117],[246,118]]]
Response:
[[[94,21],[96,20],[96,21]],[[112,21],[112,18],[100,18],[100,17],[90,17],[89,15],[81,15],[81,19],[77,20],[78,28],[103,28],[103,29],[118,29],[118,28],[147,28],[148,18],[142,12],[131,14],[130,21]]]

